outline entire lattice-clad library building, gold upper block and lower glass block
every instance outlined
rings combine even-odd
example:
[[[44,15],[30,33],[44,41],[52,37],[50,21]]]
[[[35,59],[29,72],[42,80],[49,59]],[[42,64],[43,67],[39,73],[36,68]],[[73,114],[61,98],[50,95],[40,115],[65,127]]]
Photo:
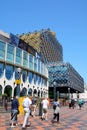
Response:
[[[19,37],[43,56],[49,72],[50,95],[84,91],[83,78],[70,63],[63,62],[63,49],[54,32],[42,29]]]

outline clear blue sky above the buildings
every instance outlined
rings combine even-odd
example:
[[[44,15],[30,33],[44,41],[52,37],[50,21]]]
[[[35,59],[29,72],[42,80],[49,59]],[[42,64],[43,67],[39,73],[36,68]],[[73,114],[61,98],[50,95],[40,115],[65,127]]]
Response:
[[[87,0],[0,0],[0,30],[21,34],[50,28],[87,83]]]

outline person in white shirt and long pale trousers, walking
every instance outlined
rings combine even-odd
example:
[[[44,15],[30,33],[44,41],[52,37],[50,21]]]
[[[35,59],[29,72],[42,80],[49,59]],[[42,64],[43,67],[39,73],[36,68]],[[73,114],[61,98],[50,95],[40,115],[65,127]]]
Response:
[[[29,95],[27,95],[22,103],[22,106],[24,108],[24,122],[22,125],[22,129],[26,129],[26,126],[30,125],[30,122],[28,121],[28,117],[30,115],[31,104],[32,104],[31,99],[29,98]]]

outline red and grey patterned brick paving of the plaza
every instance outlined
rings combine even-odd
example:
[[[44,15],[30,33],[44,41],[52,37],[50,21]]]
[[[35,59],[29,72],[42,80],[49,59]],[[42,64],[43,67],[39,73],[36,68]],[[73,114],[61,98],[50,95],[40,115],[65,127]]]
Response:
[[[69,109],[61,107],[60,123],[51,123],[53,110],[49,108],[48,120],[41,120],[40,116],[30,117],[31,126],[26,129],[31,130],[87,130],[87,104],[81,110],[78,107]],[[21,130],[23,115],[18,115],[20,124],[15,128],[10,127],[10,112],[0,111],[0,130]]]

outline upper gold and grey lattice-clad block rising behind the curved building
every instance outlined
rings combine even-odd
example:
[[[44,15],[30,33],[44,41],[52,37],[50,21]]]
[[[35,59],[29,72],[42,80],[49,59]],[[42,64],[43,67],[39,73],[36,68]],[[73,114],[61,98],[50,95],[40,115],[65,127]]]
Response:
[[[63,48],[50,29],[43,29],[19,36],[43,56],[46,63],[63,61]]]

